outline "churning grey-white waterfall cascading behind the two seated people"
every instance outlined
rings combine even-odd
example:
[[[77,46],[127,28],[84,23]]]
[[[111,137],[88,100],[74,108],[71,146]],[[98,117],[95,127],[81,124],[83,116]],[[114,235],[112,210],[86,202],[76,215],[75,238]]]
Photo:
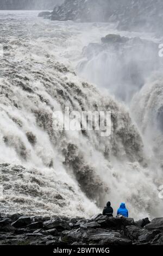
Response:
[[[114,210],[125,201],[135,218],[161,215],[159,164],[153,172],[127,107],[74,74],[83,47],[114,25],[37,13],[0,13],[0,211],[91,216],[111,200]],[[53,111],[65,106],[111,111],[111,136],[55,131]]]

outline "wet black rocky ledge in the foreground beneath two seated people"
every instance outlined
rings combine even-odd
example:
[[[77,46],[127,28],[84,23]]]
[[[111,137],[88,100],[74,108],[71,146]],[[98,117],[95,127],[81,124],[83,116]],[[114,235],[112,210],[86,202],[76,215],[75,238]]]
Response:
[[[163,218],[1,215],[0,245],[163,245]]]

